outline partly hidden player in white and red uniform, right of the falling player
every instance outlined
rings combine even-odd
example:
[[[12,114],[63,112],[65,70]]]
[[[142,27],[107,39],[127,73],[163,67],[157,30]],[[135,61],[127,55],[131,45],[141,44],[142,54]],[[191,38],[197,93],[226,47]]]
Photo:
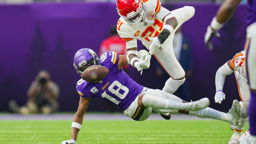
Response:
[[[216,84],[216,94],[215,94],[215,102],[221,103],[223,99],[225,99],[225,94],[223,92],[223,85],[225,81],[225,76],[230,75],[235,71],[235,78],[237,80],[237,88],[239,92],[239,96],[242,100],[242,108],[241,108],[241,125],[236,126],[234,129],[234,134],[230,138],[228,144],[239,144],[239,139],[242,136],[242,132],[244,127],[248,122],[248,105],[250,101],[250,87],[248,85],[248,80],[245,73],[244,68],[244,60],[245,60],[245,51],[239,52],[233,57],[232,60],[226,62],[223,66],[221,66],[216,72],[215,84]]]

